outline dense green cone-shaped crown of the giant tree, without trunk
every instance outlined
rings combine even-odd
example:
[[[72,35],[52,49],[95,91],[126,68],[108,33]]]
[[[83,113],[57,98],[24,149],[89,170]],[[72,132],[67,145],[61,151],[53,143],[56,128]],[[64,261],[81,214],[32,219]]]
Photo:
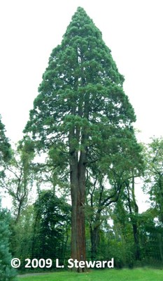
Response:
[[[52,50],[26,131],[43,145],[52,143],[51,136],[55,145],[65,145],[70,131],[76,150],[84,131],[89,131],[84,146],[104,144],[113,127],[132,128],[136,119],[123,81],[101,32],[79,7],[62,44]]]

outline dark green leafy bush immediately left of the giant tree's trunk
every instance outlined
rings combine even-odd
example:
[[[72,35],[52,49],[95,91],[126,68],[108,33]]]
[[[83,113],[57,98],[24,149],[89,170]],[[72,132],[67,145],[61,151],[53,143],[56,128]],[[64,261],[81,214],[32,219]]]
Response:
[[[70,206],[51,190],[40,192],[34,203],[32,256],[64,262],[70,225]]]

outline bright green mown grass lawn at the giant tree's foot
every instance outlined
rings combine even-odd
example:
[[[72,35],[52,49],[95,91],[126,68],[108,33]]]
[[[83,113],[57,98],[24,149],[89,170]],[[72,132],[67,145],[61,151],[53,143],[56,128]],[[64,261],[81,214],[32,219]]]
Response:
[[[57,272],[23,276],[18,281],[162,281],[160,269],[91,270],[90,273]]]

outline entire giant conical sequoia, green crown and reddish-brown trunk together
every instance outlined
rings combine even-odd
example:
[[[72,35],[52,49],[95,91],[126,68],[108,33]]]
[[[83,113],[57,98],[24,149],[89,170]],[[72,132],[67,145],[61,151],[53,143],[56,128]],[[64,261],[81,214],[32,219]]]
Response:
[[[104,171],[113,165],[113,155],[135,143],[136,117],[123,81],[101,32],[78,8],[52,50],[24,130],[62,173],[69,166],[71,257],[78,261],[85,259],[86,168],[96,162]]]

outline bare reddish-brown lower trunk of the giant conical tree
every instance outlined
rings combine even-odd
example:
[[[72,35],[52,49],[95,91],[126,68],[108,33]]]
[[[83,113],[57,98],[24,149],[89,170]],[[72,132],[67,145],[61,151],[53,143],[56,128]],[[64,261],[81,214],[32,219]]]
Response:
[[[77,152],[71,157],[71,258],[85,261],[85,155]],[[78,272],[85,268],[73,268]]]

